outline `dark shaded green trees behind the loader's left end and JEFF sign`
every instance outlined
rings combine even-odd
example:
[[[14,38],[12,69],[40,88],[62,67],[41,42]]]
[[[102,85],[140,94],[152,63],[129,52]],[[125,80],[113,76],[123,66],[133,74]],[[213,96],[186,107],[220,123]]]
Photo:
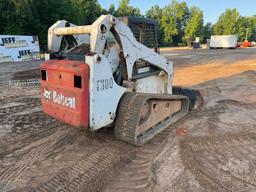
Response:
[[[107,13],[97,0],[0,0],[0,10],[1,34],[38,35],[43,49],[57,20],[83,25]]]

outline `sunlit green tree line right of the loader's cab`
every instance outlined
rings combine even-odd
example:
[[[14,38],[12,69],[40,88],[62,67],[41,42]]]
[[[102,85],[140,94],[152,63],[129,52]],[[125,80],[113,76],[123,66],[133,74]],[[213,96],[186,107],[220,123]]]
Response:
[[[173,0],[163,8],[154,5],[146,16],[158,20],[159,42],[163,46],[190,45],[195,37],[206,43],[211,35],[237,34],[238,41],[256,41],[256,15],[244,17],[237,9],[226,9],[215,24],[204,24],[203,11],[199,7],[188,7],[185,1]]]

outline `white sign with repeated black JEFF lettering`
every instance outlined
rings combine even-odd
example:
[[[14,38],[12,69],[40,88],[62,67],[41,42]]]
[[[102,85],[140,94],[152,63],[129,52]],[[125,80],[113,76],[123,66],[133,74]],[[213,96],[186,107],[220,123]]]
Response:
[[[0,35],[0,63],[40,59],[37,36]]]

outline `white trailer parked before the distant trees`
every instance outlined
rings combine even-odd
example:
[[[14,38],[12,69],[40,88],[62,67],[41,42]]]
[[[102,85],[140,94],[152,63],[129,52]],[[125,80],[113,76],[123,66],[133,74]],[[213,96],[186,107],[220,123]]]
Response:
[[[210,49],[236,48],[237,39],[237,35],[212,35],[210,40]]]

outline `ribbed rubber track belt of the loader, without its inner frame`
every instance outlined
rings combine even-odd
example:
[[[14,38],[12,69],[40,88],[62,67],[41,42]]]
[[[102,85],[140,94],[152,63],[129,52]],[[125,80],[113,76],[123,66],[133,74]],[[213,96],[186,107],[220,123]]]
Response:
[[[186,99],[186,97],[179,95],[126,93],[120,101],[117,112],[118,115],[115,122],[115,136],[118,139],[126,141],[135,146],[142,145],[149,141],[150,139],[152,139],[164,128],[167,128],[171,123],[174,123],[180,118],[182,118],[186,114],[186,111],[188,110],[182,109],[180,112],[183,112],[183,114],[180,114],[180,116],[177,116],[176,114],[174,116],[175,118],[171,117],[164,122],[158,123],[155,128],[151,128],[150,131],[146,132],[144,135],[141,135],[139,138],[137,138],[138,135],[136,133],[136,128],[140,120],[140,109],[143,106],[143,104],[149,99],[174,100]],[[170,123],[166,123],[170,120]]]

